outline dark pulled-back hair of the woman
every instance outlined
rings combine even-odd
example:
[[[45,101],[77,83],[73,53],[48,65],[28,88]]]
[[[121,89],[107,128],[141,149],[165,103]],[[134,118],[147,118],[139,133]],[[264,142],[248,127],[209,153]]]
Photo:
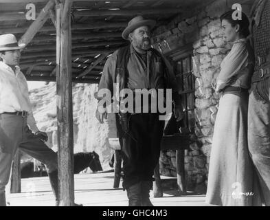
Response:
[[[247,15],[244,12],[240,12],[238,11],[238,13],[242,13],[242,19],[234,19],[232,17],[232,14],[235,12],[236,10],[229,10],[228,12],[225,12],[224,14],[221,15],[221,21],[226,20],[229,21],[229,23],[235,27],[236,25],[239,25],[240,29],[239,32],[240,34],[242,34],[245,38],[247,36],[249,36],[250,32],[249,32],[249,18],[247,17]]]

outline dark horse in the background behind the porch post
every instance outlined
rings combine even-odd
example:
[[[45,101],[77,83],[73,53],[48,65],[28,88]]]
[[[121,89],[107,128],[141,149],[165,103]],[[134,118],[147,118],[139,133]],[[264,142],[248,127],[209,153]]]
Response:
[[[87,153],[75,153],[74,173],[80,173],[80,171],[85,170],[87,167],[91,168],[93,172],[102,171],[98,153],[95,153],[95,151]],[[21,178],[45,176],[47,176],[47,172],[44,164],[38,166],[38,171],[34,172],[34,162],[29,161],[21,163]]]

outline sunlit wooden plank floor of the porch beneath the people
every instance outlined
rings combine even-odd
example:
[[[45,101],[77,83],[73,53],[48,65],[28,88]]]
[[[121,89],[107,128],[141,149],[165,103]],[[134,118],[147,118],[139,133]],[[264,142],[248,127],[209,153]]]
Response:
[[[168,177],[161,177],[161,179]],[[172,180],[173,181],[173,180]],[[10,206],[54,206],[54,195],[47,177],[22,179],[21,193],[7,195]],[[120,183],[121,186],[122,183]],[[207,206],[205,195],[179,196],[166,190],[164,197],[150,199],[154,206]],[[113,173],[75,175],[75,201],[83,206],[127,206],[126,191],[113,188]]]

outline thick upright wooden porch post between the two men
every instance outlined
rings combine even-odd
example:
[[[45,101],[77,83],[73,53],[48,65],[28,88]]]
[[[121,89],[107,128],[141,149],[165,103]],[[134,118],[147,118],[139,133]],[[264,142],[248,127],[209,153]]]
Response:
[[[74,137],[71,85],[71,5],[56,3],[56,102],[60,206],[74,206]]]

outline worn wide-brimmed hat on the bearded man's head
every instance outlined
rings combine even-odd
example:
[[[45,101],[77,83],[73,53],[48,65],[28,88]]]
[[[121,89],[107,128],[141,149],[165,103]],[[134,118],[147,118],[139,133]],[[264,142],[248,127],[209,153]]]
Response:
[[[123,39],[128,40],[128,34],[133,32],[133,30],[142,26],[148,26],[150,29],[152,29],[155,27],[155,24],[155,20],[145,20],[142,16],[135,17],[128,22],[128,26],[122,32],[122,37]]]

